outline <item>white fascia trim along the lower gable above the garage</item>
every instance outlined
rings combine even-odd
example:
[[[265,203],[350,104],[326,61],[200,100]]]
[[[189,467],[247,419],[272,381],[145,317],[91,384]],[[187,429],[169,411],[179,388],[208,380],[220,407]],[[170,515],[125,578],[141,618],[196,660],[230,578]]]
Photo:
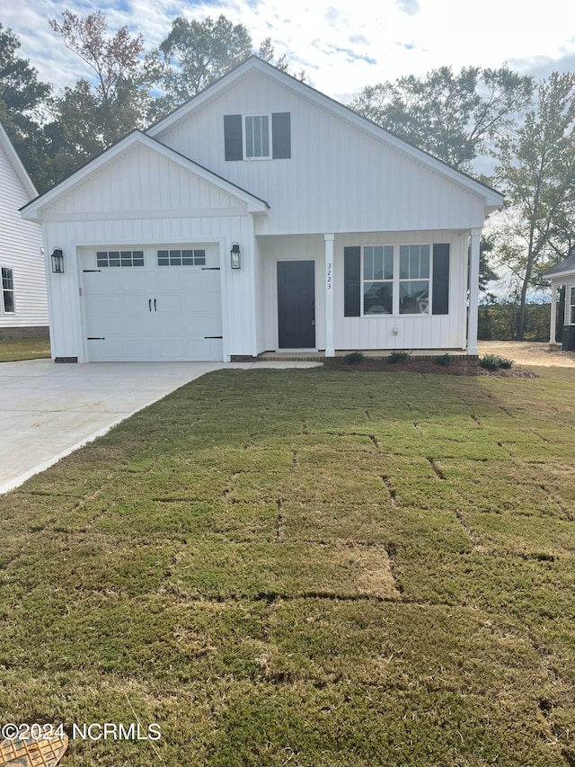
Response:
[[[113,147],[106,149],[101,155],[94,157],[91,162],[77,170],[75,174],[68,176],[63,182],[57,184],[53,189],[50,189],[49,192],[40,195],[36,200],[24,205],[20,210],[22,219],[41,222],[43,220],[43,211],[49,207],[49,205],[57,201],[59,197],[70,192],[77,184],[84,183],[84,181],[89,179],[91,175],[98,173],[103,167],[114,162],[119,156],[125,154],[137,144],[145,146],[157,154],[167,157],[190,171],[190,173],[199,175],[209,183],[213,183],[220,189],[234,195],[234,197],[245,202],[248,206],[251,205],[257,212],[265,212],[265,210],[269,208],[267,202],[260,200],[260,198],[255,197],[250,192],[243,190],[239,186],[235,186],[233,183],[226,181],[226,179],[217,174],[211,173],[207,168],[194,163],[192,160],[180,155],[170,147],[165,147],[164,144],[156,141],[155,138],[150,138],[139,130],[133,130],[126,138],[122,138],[117,144],[114,144]]]

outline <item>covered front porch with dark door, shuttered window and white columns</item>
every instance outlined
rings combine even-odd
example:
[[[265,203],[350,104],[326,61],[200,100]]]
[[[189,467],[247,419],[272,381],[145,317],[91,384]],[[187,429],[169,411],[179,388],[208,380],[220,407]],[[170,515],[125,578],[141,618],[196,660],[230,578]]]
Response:
[[[480,237],[479,228],[257,236],[254,357],[476,356]]]

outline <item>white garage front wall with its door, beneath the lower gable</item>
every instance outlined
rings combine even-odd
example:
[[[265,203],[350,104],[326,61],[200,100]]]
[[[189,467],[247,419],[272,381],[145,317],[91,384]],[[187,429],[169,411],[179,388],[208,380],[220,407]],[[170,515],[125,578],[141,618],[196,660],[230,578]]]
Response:
[[[254,353],[252,216],[233,194],[137,147],[44,215],[49,246],[65,258],[65,273],[50,275],[56,358],[223,360],[230,346]],[[239,272],[230,269],[234,241],[243,249]],[[203,269],[158,265],[158,250],[202,248]],[[145,254],[143,268],[84,272],[97,268],[97,252],[135,250]]]

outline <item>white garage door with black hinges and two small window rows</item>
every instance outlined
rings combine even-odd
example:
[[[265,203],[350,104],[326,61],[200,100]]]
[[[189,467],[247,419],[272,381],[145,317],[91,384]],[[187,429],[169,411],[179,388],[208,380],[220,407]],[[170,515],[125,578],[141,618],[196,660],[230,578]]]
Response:
[[[89,361],[223,359],[217,245],[96,248],[82,284]]]

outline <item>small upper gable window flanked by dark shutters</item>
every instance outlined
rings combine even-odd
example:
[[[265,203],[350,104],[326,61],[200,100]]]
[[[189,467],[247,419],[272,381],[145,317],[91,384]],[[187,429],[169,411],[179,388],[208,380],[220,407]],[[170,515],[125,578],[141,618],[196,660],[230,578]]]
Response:
[[[224,115],[226,161],[289,159],[291,157],[291,114]]]

